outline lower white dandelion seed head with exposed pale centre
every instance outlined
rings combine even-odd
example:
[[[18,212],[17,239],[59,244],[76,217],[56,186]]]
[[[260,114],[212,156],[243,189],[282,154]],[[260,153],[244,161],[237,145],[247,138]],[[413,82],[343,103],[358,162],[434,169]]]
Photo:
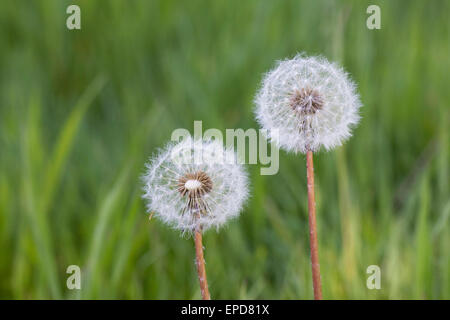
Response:
[[[170,143],[147,165],[147,209],[183,233],[219,229],[237,217],[248,197],[248,177],[233,149],[187,138]]]

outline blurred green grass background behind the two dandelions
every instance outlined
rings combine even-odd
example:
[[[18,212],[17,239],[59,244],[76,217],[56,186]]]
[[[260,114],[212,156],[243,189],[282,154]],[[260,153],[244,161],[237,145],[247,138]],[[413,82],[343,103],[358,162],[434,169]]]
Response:
[[[82,30],[69,31],[71,3]],[[381,30],[366,8],[381,7]],[[324,298],[450,298],[448,1],[8,1],[0,8],[0,298],[198,299],[192,239],[148,220],[144,163],[175,128],[257,128],[277,59],[340,62],[362,121],[315,157]],[[311,299],[305,158],[251,173],[204,237],[221,299]],[[79,265],[82,290],[66,288]],[[381,268],[368,290],[366,268]]]

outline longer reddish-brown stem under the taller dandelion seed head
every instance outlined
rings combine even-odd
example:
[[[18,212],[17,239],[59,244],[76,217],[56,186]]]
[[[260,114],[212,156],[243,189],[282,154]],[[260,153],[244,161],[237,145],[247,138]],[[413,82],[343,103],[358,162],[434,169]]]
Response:
[[[306,173],[308,180],[308,216],[309,216],[309,242],[311,248],[311,268],[314,287],[314,299],[322,300],[322,285],[320,283],[319,247],[316,230],[316,200],[314,196],[314,165],[313,153],[306,153]]]

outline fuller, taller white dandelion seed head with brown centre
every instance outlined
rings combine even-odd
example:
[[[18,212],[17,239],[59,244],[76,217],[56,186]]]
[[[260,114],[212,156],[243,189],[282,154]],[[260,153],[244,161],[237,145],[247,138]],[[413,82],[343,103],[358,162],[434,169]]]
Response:
[[[268,138],[302,153],[340,146],[351,136],[361,107],[356,86],[341,67],[303,54],[279,61],[265,75],[255,103]]]

